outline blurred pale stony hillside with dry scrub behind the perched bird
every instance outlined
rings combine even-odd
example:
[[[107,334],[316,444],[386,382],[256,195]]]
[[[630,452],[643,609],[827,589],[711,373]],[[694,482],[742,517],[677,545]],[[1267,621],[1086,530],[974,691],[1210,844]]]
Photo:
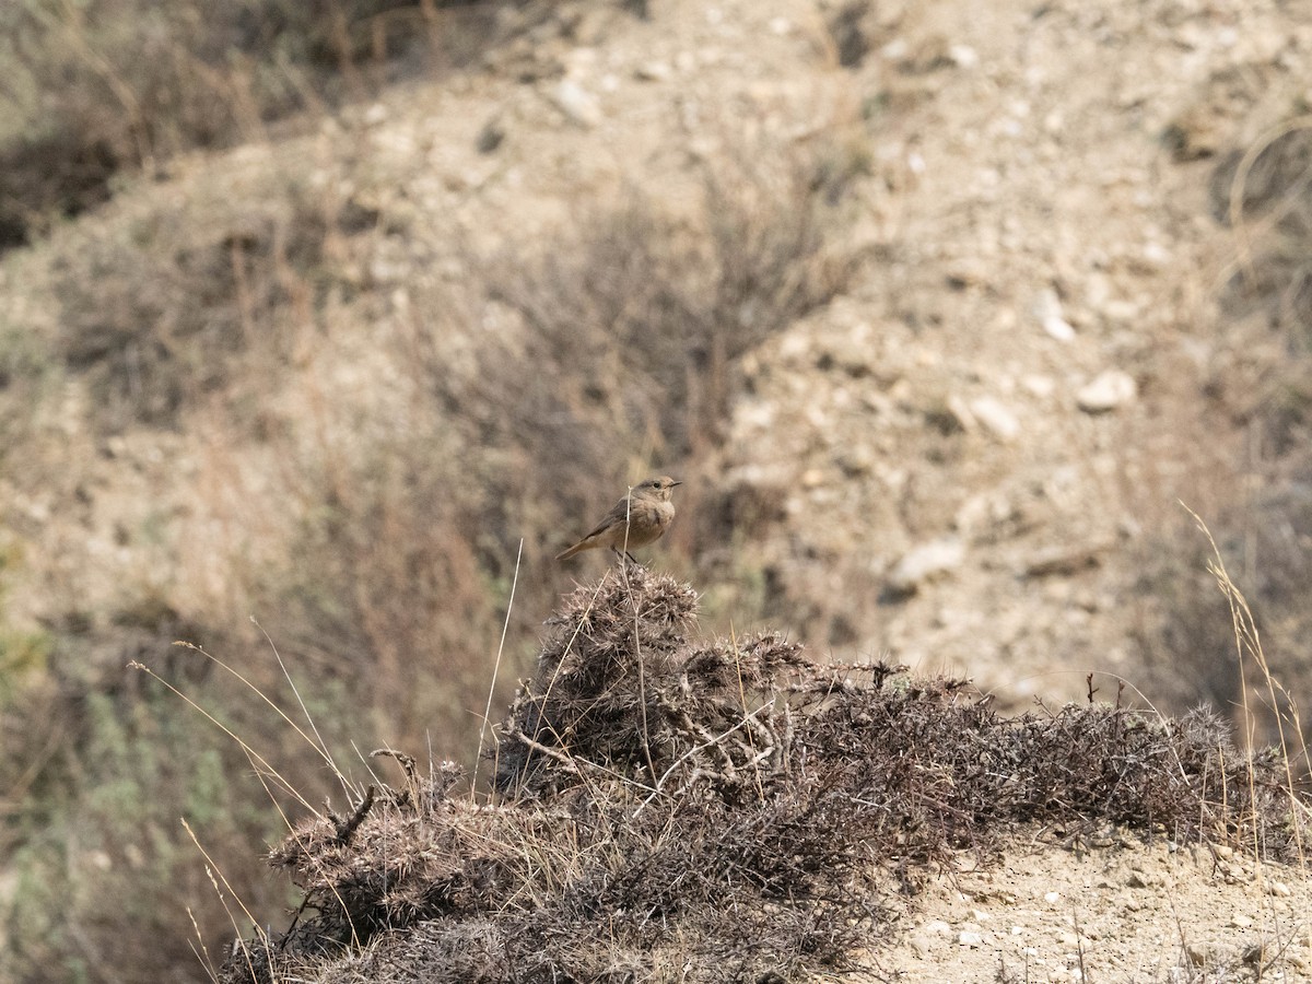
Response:
[[[325,10],[266,12],[332,79],[272,58],[281,115],[241,58],[151,50],[199,66],[152,102],[118,35],[42,21],[136,106],[104,146],[155,143],[0,230],[0,970],[202,979],[180,896],[226,916],[178,816],[278,904],[251,845],[283,820],[230,808],[251,760],[130,660],[311,802],[315,750],[234,674],[357,769],[470,758],[602,563],[554,555],[652,472],[685,483],[652,560],[710,631],[1299,731],[1270,682],[1307,686],[1312,623],[1299,4]],[[209,148],[138,126],[184,92],[223,93]]]

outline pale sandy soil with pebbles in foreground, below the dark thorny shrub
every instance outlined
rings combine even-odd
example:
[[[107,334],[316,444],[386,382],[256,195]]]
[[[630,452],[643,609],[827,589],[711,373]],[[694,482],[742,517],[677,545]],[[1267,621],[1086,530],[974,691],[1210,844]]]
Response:
[[[870,955],[870,979],[1307,980],[1309,901],[1304,872],[1229,851],[1017,848],[998,869],[938,879],[901,942]]]

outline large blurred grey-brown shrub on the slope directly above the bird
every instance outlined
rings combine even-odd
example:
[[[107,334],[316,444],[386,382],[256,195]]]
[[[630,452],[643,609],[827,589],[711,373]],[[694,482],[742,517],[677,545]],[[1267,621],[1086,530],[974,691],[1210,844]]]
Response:
[[[643,471],[715,447],[740,357],[841,293],[862,260],[836,243],[859,167],[833,148],[727,151],[677,211],[630,190],[547,248],[470,251],[464,295],[416,304],[476,338],[455,358],[446,324],[417,327],[411,363],[479,449],[489,569],[506,573],[497,556],[520,533],[550,555],[563,523],[600,514]]]

